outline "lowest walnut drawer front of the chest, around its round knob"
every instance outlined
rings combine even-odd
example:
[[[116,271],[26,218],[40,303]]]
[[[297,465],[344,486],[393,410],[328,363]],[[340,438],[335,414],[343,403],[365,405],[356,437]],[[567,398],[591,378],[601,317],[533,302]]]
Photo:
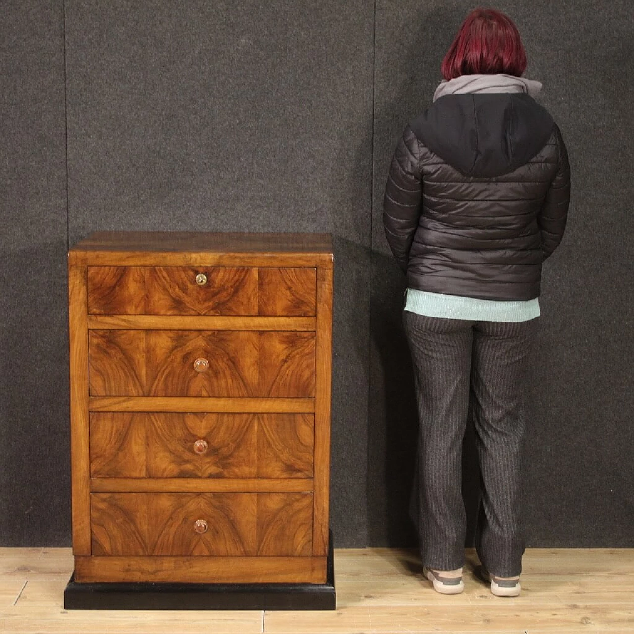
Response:
[[[93,555],[311,554],[310,493],[92,493],[90,506]]]

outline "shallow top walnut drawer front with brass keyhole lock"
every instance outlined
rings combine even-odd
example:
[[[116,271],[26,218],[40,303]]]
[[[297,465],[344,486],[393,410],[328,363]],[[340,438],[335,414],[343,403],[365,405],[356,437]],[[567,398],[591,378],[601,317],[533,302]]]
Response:
[[[91,266],[91,314],[314,315],[314,268]]]

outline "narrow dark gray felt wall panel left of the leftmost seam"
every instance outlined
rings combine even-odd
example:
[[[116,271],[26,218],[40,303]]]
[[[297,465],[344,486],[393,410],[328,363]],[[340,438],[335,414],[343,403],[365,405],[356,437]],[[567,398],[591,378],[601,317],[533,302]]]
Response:
[[[0,18],[0,545],[70,543],[61,0]]]

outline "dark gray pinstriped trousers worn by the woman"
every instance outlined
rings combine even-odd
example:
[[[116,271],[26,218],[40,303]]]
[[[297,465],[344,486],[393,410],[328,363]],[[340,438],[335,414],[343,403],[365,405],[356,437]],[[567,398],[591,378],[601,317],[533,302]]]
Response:
[[[410,513],[422,563],[437,570],[463,566],[462,440],[471,403],[482,489],[475,548],[489,572],[520,574],[524,380],[540,317],[467,321],[403,310],[403,325],[418,407]]]

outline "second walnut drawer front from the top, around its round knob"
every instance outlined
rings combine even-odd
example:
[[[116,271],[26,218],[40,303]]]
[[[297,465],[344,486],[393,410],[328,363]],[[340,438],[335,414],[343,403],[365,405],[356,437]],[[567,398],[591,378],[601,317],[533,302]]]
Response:
[[[91,330],[89,390],[91,396],[311,397],[314,356],[314,332]],[[197,359],[209,367],[197,372]]]

